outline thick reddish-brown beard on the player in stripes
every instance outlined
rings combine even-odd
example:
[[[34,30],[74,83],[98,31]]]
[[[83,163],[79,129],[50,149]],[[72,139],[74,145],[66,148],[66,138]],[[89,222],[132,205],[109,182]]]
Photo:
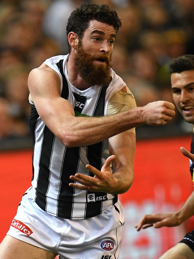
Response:
[[[107,66],[101,64],[94,64],[93,60],[102,58],[105,60]],[[111,57],[108,57],[106,54],[101,55],[91,55],[87,50],[85,50],[81,44],[81,41],[78,43],[78,51],[75,57],[75,65],[78,70],[79,75],[87,83],[92,85],[108,85],[111,80]]]

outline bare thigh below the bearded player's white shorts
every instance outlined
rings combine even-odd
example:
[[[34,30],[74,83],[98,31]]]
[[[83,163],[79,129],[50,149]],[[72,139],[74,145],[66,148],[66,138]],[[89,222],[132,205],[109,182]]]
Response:
[[[56,254],[30,245],[11,236],[0,244],[0,258],[6,259],[54,259]]]

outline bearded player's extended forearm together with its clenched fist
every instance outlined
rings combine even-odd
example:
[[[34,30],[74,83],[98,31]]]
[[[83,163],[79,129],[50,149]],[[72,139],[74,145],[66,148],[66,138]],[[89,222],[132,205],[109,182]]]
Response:
[[[166,102],[158,101],[101,118],[66,115],[64,123],[58,121],[60,126],[53,130],[58,129],[57,136],[68,147],[90,145],[141,124],[166,124],[172,119],[171,115],[174,115],[174,111],[166,108]]]

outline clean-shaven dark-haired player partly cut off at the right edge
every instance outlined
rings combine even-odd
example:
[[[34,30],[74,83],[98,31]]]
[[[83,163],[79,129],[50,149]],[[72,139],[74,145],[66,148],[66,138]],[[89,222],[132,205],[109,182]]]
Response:
[[[175,59],[170,64],[169,70],[175,105],[185,121],[194,126],[194,55],[185,55]],[[190,173],[194,181],[194,134],[191,142],[191,153],[183,147],[181,147],[181,153],[190,158]],[[178,226],[193,215],[194,191],[178,211],[145,215],[135,227],[139,231],[141,228],[151,226],[154,228]],[[160,259],[192,258],[194,258],[194,231],[187,233],[180,243],[160,257]]]

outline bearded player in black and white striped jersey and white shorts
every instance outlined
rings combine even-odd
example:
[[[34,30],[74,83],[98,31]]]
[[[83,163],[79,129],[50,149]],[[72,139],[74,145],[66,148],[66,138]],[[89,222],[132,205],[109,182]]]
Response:
[[[136,108],[111,69],[120,27],[107,5],[83,4],[68,19],[70,54],[30,72],[32,187],[0,258],[118,258],[124,214],[117,194],[133,181],[134,127],[163,125],[175,114],[165,101]]]

